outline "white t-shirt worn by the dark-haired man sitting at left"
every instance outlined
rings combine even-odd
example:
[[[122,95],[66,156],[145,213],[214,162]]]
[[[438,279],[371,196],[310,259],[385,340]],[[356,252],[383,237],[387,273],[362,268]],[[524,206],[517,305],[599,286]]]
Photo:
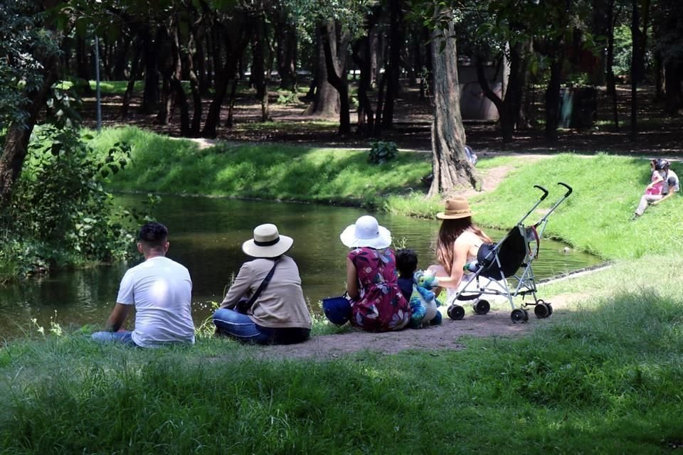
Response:
[[[135,305],[132,340],[143,348],[194,343],[192,281],[187,269],[167,257],[147,259],[121,279],[117,303]]]

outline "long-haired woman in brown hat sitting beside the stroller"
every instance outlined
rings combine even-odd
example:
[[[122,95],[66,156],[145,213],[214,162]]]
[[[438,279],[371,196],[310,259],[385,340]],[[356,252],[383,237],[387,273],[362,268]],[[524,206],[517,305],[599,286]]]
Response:
[[[435,294],[440,293],[440,288],[446,288],[447,301],[450,301],[450,296],[462,282],[465,264],[477,259],[482,244],[492,240],[472,223],[470,204],[461,196],[446,200],[445,210],[436,218],[443,220],[436,243],[439,264],[431,265],[429,270],[438,277],[439,287],[434,290]]]

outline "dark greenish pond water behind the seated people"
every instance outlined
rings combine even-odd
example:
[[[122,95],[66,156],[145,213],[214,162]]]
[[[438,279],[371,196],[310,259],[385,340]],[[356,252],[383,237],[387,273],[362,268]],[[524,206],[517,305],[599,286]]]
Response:
[[[142,196],[116,198],[122,206],[133,206],[141,200]],[[320,299],[342,294],[348,250],[339,241],[339,233],[364,214],[359,208],[327,205],[164,196],[154,216],[169,228],[168,257],[190,271],[194,321],[198,325],[211,314],[208,302],[221,301],[231,275],[237,274],[240,265],[248,260],[241,245],[262,223],[275,223],[280,233],[294,238],[288,254],[299,264],[304,294],[314,308]],[[418,253],[420,268],[434,262],[438,220],[385,213],[376,218],[391,230],[395,245]],[[486,232],[494,239],[505,235],[503,231]],[[560,242],[541,241],[539,258],[534,262],[537,279],[600,262],[581,252],[566,253],[564,247]],[[0,287],[1,338],[35,331],[31,319],[46,329],[51,320],[63,327],[104,323],[115,304],[122,275],[137,262],[55,272],[49,277]]]

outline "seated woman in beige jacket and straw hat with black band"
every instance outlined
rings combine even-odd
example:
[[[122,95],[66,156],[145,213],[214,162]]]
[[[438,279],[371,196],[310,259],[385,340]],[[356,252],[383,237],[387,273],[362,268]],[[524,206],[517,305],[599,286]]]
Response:
[[[309,338],[311,314],[299,268],[285,256],[293,243],[275,225],[254,229],[253,239],[244,242],[242,250],[255,259],[242,265],[221,308],[213,314],[217,333],[258,344],[300,343]],[[240,308],[243,303],[247,305]]]

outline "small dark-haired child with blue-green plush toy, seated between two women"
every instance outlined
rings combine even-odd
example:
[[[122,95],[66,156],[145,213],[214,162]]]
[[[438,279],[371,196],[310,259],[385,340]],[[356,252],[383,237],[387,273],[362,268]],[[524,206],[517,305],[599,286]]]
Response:
[[[398,287],[411,305],[410,326],[436,326],[441,323],[442,316],[437,307],[440,302],[436,299],[432,287],[438,286],[438,280],[433,274],[418,270],[418,255],[413,250],[398,250],[396,252],[396,269],[398,270]]]

